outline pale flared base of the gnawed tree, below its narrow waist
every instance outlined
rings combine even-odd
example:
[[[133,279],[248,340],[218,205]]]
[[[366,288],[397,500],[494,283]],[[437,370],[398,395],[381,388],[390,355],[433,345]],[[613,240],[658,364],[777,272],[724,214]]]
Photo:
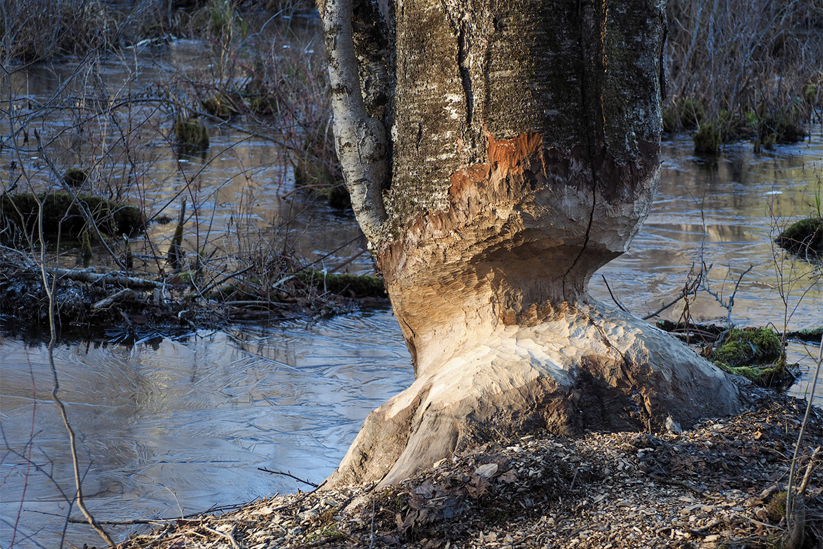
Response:
[[[599,307],[599,309],[597,308]],[[683,343],[602,304],[478,334],[366,418],[327,486],[412,477],[468,444],[546,429],[663,430],[737,412],[732,377]]]

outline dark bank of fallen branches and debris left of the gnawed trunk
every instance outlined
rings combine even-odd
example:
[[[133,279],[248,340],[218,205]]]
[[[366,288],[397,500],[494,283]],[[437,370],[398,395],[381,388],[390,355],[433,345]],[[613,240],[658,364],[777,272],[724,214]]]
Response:
[[[112,328],[174,333],[244,321],[324,318],[356,307],[388,305],[382,281],[375,277],[305,270],[281,273],[277,287],[266,288],[272,286],[270,282],[245,271],[222,277],[220,283],[198,286],[191,272],[164,277],[109,268],[44,271],[26,254],[2,249],[0,315],[32,328],[48,327],[44,272],[53,294],[56,323],[64,335],[76,329],[88,334]]]

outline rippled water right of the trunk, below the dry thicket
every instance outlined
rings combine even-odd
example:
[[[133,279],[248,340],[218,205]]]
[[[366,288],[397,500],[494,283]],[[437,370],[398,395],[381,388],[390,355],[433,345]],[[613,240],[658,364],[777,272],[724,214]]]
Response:
[[[811,144],[755,155],[751,143],[743,143],[728,147],[717,161],[692,156],[690,140],[665,142],[660,191],[649,220],[630,251],[593,277],[593,294],[612,302],[602,275],[623,305],[635,314],[649,314],[679,294],[692,265],[699,270],[705,263],[711,266],[712,289],[728,303],[732,279],[751,266],[734,297],[734,322],[774,323],[782,329],[785,309],[789,329],[819,326],[821,284],[808,276],[812,266],[772,241],[780,227],[815,211],[821,176],[820,128]],[[796,279],[783,286],[786,307],[777,290],[781,273],[783,281]],[[675,306],[661,317],[677,320],[681,311],[682,306]],[[690,311],[697,321],[727,314],[706,294],[698,296]]]

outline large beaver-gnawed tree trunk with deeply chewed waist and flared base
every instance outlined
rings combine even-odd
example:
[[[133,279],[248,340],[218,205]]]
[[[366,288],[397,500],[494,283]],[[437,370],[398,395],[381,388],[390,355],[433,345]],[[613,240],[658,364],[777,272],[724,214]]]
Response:
[[[654,430],[741,406],[727,375],[587,291],[658,187],[664,13],[650,0],[321,6],[338,156],[416,375],[332,485],[398,482],[537,428]]]

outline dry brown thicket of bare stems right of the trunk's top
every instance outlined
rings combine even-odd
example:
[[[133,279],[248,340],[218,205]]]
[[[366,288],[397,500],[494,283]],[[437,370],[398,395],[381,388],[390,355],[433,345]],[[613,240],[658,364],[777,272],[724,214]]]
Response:
[[[821,105],[823,2],[673,0],[668,27],[667,130],[802,140]]]

